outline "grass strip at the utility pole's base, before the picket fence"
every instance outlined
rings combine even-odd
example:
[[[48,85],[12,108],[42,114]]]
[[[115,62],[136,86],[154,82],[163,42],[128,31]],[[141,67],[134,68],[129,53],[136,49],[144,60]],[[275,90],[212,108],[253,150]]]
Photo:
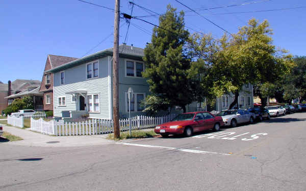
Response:
[[[114,133],[108,135],[107,139],[110,140],[122,140],[122,139],[141,139],[141,138],[152,138],[157,135],[154,130],[133,130],[130,135],[129,131],[120,132],[120,139],[114,139]]]

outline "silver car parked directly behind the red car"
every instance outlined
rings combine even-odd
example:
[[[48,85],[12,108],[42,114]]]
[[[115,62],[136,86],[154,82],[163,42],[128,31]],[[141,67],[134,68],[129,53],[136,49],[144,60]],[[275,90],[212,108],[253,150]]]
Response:
[[[256,118],[254,113],[250,113],[246,110],[226,110],[217,114],[222,117],[225,126],[236,127],[240,123],[253,123]]]

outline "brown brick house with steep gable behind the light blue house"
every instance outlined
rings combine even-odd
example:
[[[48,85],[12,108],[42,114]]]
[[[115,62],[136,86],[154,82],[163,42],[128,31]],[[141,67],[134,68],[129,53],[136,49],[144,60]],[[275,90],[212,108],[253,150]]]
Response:
[[[44,71],[56,68],[77,58],[48,54]],[[43,73],[39,92],[43,93],[43,110],[53,111],[53,73]]]

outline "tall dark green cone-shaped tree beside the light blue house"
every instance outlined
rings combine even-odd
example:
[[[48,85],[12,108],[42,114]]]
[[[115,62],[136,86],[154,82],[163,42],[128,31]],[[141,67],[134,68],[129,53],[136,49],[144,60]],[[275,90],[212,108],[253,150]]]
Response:
[[[193,99],[188,80],[190,60],[184,48],[189,37],[184,29],[184,12],[177,15],[176,9],[168,5],[166,14],[159,17],[159,26],[153,29],[151,43],[144,49],[143,76],[151,93],[186,112],[185,105]]]

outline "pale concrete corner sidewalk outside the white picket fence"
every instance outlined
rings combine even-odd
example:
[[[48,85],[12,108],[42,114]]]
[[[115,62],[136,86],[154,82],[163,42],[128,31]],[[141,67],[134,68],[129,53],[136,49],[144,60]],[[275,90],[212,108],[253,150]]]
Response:
[[[55,137],[6,125],[3,125],[3,130],[18,136],[23,140],[1,144],[13,144],[32,147],[79,147],[114,143],[114,141],[106,139],[108,134]]]

